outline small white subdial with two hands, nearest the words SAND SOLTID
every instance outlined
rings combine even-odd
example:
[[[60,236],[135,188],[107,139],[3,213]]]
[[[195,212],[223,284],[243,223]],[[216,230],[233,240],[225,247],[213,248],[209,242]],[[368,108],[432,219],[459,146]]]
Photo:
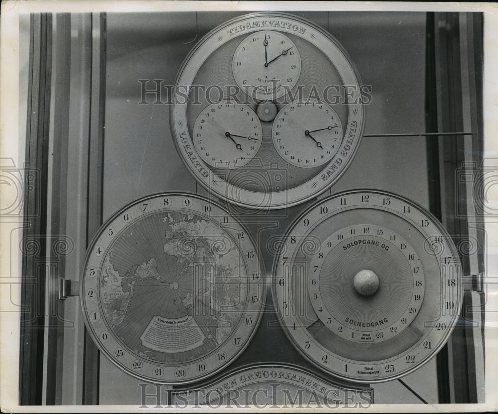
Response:
[[[277,114],[273,144],[287,162],[302,168],[326,164],[339,149],[343,130],[337,113],[317,100],[295,101]]]

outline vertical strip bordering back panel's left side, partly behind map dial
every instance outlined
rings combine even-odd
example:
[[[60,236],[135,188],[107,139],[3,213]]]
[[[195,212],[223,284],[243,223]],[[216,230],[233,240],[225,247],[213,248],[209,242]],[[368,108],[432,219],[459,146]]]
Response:
[[[104,115],[106,81],[106,14],[92,14],[92,65],[88,158],[87,244],[102,224]],[[85,332],[83,404],[99,402],[99,351]]]

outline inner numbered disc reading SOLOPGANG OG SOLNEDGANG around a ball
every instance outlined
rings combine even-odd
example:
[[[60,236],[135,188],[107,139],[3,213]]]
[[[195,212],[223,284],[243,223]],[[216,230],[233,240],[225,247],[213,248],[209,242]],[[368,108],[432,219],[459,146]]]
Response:
[[[331,234],[311,269],[313,309],[324,326],[348,341],[382,342],[399,335],[423,302],[417,253],[386,228],[358,224]]]

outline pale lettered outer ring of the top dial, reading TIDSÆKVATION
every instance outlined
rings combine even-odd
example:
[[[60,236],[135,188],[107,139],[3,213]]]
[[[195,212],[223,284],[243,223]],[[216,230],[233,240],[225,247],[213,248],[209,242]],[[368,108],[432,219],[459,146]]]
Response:
[[[325,53],[327,57],[329,57],[329,59],[334,63],[336,69],[339,71],[343,84],[358,85],[358,86],[361,85],[360,76],[358,74],[358,70],[356,69],[354,63],[352,62],[351,58],[348,56],[344,48],[330,33],[325,31],[323,28],[315,25],[314,23],[311,23],[297,16],[293,16],[287,13],[279,13],[279,12],[272,12],[272,13],[264,12],[264,13],[250,13],[229,20],[223,23],[222,25],[217,26],[216,28],[211,30],[208,34],[206,34],[197,43],[197,45],[190,51],[190,53],[185,58],[182,66],[180,67],[180,70],[178,71],[175,80],[175,90],[176,88],[178,88],[179,85],[182,86],[190,85],[195,77],[195,74],[198,71],[198,68],[201,67],[207,56],[210,53],[212,53],[212,51],[216,50],[219,46],[223,44],[222,40],[219,40],[218,44],[215,45],[216,47],[214,48],[212,47],[213,50],[204,51],[203,49],[205,48],[205,45],[208,43],[210,39],[215,39],[216,35],[218,35],[218,39],[222,39],[223,32],[226,31],[227,28],[229,28],[230,26],[234,27],[238,23],[241,23],[242,21],[253,20],[255,18],[266,18],[266,17],[287,19],[292,21],[293,23],[299,23],[305,25],[306,28],[311,28],[312,30],[314,30],[316,33],[314,33],[313,35],[318,37],[321,36],[320,37],[321,41],[324,42],[324,44],[321,47],[319,47],[318,45],[316,45],[316,47],[320,48],[321,51]],[[270,27],[270,28],[272,30],[275,29],[275,27]],[[260,28],[256,28],[255,30],[252,31],[259,31],[259,30]],[[243,31],[242,33],[248,34],[250,32],[251,31]],[[312,43],[309,39],[305,40]],[[228,39],[225,39],[225,41],[228,41]],[[203,50],[203,53],[206,56],[200,57],[201,61],[197,62],[197,66],[193,65],[192,58],[195,57],[196,54],[198,54],[199,51],[201,50]],[[335,59],[333,60],[330,55],[333,55],[334,53],[337,56],[334,55]],[[339,62],[339,60],[341,60],[341,62]],[[186,76],[185,75],[186,70],[191,71],[193,74]],[[187,79],[187,82],[182,82],[182,79],[184,77]],[[176,95],[174,100],[176,101]],[[181,106],[183,106],[183,108],[179,109]],[[181,154],[181,158],[184,164],[187,166],[187,168],[189,169],[190,173],[194,176],[194,178],[208,191],[210,191],[211,193],[215,194],[216,196],[224,200],[227,200],[231,203],[246,208],[279,209],[279,208],[291,207],[297,204],[301,204],[305,201],[308,201],[316,197],[317,195],[323,193],[328,188],[330,188],[344,174],[344,172],[351,164],[356,154],[356,151],[358,150],[358,147],[360,145],[364,130],[364,120],[365,120],[364,105],[362,103],[349,104],[348,122],[347,125],[343,127],[343,142],[341,143],[342,150],[337,151],[337,153],[334,155],[334,157],[332,157],[330,162],[327,163],[319,173],[322,174],[324,171],[328,171],[328,174],[324,174],[326,175],[326,178],[323,179],[319,178],[318,176],[315,176],[308,182],[301,184],[297,187],[287,189],[285,191],[257,193],[249,190],[244,190],[239,187],[235,187],[225,181],[223,181],[222,184],[214,185],[213,183],[214,174],[212,172],[209,172],[207,175],[201,175],[192,165],[192,162],[189,162],[188,156],[186,155],[188,151],[182,147],[183,145],[188,145],[189,143],[192,142],[192,138],[190,137],[188,132],[187,121],[185,116],[186,106],[187,106],[186,102],[182,105],[174,102],[170,110],[170,121],[171,121],[170,127],[171,127],[173,141],[175,143],[178,152]],[[347,137],[350,140],[350,143],[344,144],[345,137]],[[338,156],[338,154],[341,153],[345,155]],[[210,169],[206,168],[206,165],[201,160],[199,161],[201,162],[202,167],[210,171]],[[335,163],[337,165],[334,165]],[[234,193],[237,194],[237,196],[234,196],[233,195]],[[270,198],[269,201],[267,200],[268,196]]]

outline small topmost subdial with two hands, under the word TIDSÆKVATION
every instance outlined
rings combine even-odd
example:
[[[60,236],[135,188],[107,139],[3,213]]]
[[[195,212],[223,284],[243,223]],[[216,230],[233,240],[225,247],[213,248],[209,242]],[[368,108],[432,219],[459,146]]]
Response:
[[[235,81],[258,100],[276,99],[292,90],[301,75],[294,43],[277,31],[252,33],[237,47],[232,61]]]

